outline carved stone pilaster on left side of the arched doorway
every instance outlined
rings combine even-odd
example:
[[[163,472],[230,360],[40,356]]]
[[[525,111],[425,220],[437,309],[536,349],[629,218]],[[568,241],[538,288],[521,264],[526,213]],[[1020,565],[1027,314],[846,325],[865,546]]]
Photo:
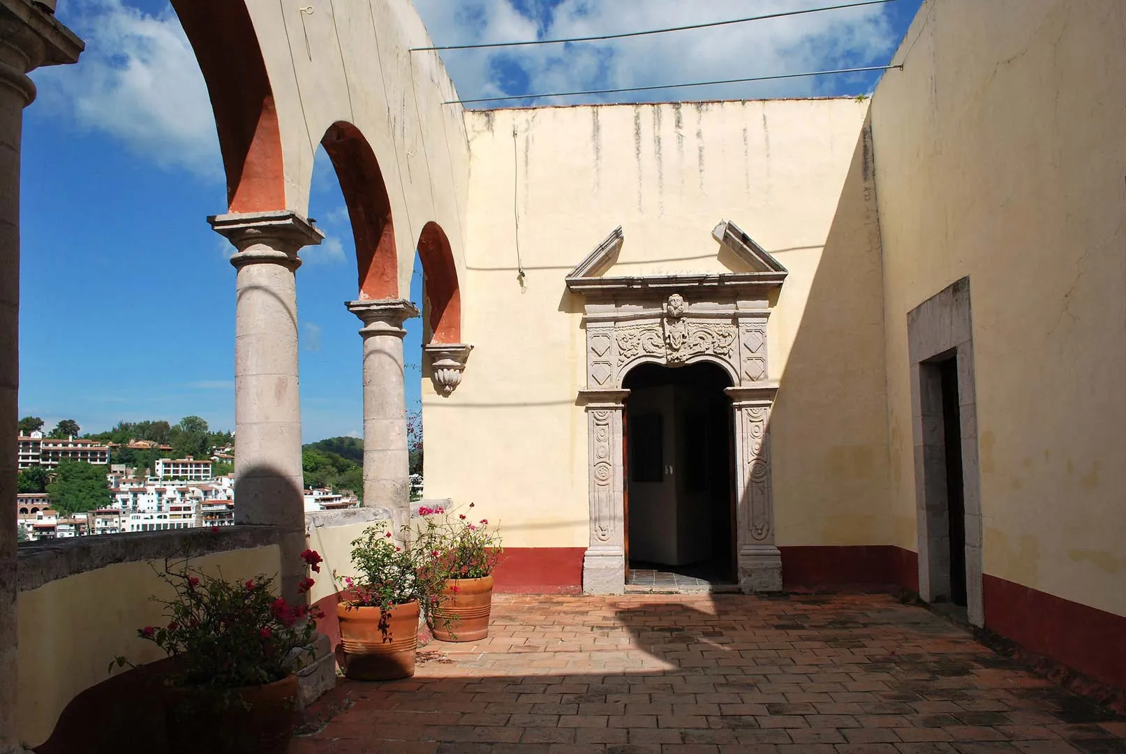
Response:
[[[622,416],[629,391],[580,391],[590,452],[590,547],[582,558],[586,594],[626,591],[625,474]]]

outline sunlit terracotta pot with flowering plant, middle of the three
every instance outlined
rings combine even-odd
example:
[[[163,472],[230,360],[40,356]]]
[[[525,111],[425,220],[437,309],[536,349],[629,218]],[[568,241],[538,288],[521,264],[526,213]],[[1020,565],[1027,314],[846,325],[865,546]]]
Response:
[[[357,576],[337,576],[345,586],[337,605],[345,675],[360,681],[410,677],[419,614],[431,609],[440,590],[419,567],[417,549],[396,544],[383,526],[368,527],[351,546]]]

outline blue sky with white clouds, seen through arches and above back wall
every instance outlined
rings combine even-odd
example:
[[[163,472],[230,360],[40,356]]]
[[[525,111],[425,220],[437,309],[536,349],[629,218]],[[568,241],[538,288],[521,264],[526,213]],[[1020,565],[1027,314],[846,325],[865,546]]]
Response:
[[[920,1],[444,59],[465,98],[879,65]],[[20,415],[48,425],[71,418],[83,431],[188,414],[233,428],[233,249],[205,219],[224,212],[225,188],[198,68],[164,1],[59,5],[88,51],[78,66],[36,72],[39,98],[25,114]],[[682,0],[417,0],[437,44],[636,30],[819,5],[837,2],[711,0],[704,14]],[[856,74],[615,101],[855,95],[876,80]],[[297,272],[306,442],[363,428],[359,321],[343,307],[356,295],[354,249],[323,151],[310,215],[330,239],[303,254]],[[420,284],[415,273],[417,303]],[[421,321],[408,331],[406,397],[417,406]]]

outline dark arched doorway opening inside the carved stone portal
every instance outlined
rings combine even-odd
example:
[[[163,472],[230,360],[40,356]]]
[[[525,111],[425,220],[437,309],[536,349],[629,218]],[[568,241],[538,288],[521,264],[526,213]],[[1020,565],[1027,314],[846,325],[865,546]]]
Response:
[[[711,363],[626,375],[627,584],[734,584],[732,411]]]

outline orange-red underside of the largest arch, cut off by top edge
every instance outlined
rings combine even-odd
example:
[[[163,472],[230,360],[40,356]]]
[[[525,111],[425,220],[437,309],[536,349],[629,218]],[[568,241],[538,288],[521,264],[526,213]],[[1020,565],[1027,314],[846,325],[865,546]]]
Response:
[[[207,82],[230,212],[285,208],[282,134],[243,0],[171,0]]]

